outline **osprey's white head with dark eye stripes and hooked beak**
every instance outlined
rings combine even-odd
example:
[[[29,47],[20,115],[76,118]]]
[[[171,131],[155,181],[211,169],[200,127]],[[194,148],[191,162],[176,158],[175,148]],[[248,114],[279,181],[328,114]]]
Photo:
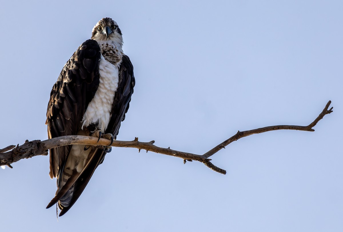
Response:
[[[100,41],[113,41],[123,43],[121,31],[116,21],[111,18],[103,18],[95,24],[92,31],[92,40]]]

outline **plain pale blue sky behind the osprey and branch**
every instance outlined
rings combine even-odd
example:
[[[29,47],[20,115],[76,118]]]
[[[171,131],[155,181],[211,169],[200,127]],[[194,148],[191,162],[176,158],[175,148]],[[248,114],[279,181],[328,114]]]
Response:
[[[59,73],[104,17],[117,21],[136,86],[118,140],[203,154],[199,162],[114,148],[70,211],[49,157],[0,169],[1,231],[342,231],[343,2],[3,1],[0,147],[47,139]]]

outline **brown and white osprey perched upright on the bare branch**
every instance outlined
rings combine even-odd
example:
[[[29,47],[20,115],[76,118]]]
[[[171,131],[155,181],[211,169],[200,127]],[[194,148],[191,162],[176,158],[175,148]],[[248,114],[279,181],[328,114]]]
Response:
[[[50,93],[49,139],[86,135],[111,139],[118,134],[133,93],[133,66],[122,50],[118,24],[103,18],[92,37],[74,52]],[[111,147],[68,145],[50,149],[50,177],[57,177],[57,203],[66,213],[79,198]]]

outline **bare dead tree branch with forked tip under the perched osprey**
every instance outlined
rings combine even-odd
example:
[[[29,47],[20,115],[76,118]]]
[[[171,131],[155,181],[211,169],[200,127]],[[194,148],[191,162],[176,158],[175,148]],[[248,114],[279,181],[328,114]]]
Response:
[[[111,146],[132,147],[132,148],[138,148],[138,151],[146,150],[146,152],[152,151],[159,154],[179,157],[184,160],[184,163],[186,163],[186,161],[195,160],[195,161],[199,161],[205,164],[207,167],[211,168],[212,170],[218,173],[226,174],[225,170],[216,167],[210,162],[211,161],[211,159],[209,159],[210,156],[212,156],[213,154],[215,154],[222,148],[225,148],[225,146],[227,146],[228,144],[238,139],[241,139],[243,137],[252,135],[252,134],[259,134],[259,133],[263,133],[267,131],[275,131],[275,130],[315,131],[312,128],[319,122],[319,120],[321,120],[324,117],[324,115],[332,112],[333,107],[328,109],[330,104],[331,104],[331,101],[329,101],[326,104],[325,108],[319,114],[319,116],[313,122],[311,122],[308,126],[277,125],[277,126],[267,126],[263,128],[249,130],[249,131],[238,131],[234,136],[218,144],[217,146],[215,146],[214,148],[212,148],[210,151],[206,152],[203,155],[196,155],[196,154],[187,153],[187,152],[175,151],[175,150],[171,150],[170,147],[168,148],[157,147],[154,145],[155,141],[139,142],[138,138],[135,138],[133,141],[118,141],[117,140],[117,141],[114,141]],[[44,140],[44,141],[26,140],[25,143],[21,146],[19,146],[19,144],[17,146],[10,145],[3,149],[0,149],[0,166],[7,165],[12,168],[11,164],[19,161],[20,159],[31,158],[36,155],[47,155],[49,149],[59,147],[59,146],[65,146],[65,145],[71,145],[71,144],[108,146],[110,144],[110,140],[107,140],[107,139],[100,139],[99,142],[97,142],[97,140],[98,139],[96,137],[81,136],[81,135],[67,135],[67,136],[56,137],[56,138]]]

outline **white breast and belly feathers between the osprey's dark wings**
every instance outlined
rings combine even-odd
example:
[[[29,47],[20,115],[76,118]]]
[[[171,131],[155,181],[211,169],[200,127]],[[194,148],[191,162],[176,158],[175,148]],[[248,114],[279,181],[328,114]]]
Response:
[[[92,123],[97,123],[98,129],[103,133],[105,132],[118,88],[118,74],[118,66],[109,63],[101,55],[99,65],[100,84],[83,116],[82,129],[84,126],[87,127]]]

